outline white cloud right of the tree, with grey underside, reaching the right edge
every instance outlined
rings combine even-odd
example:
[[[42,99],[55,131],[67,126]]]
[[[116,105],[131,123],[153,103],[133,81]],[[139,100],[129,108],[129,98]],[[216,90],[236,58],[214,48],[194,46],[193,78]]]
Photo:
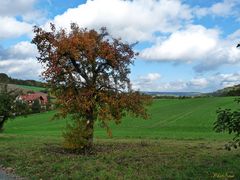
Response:
[[[217,29],[207,29],[201,25],[189,25],[144,49],[140,57],[151,61],[196,63],[194,69],[203,72],[218,68],[223,64],[240,62],[240,50],[236,48],[238,32],[222,39]]]

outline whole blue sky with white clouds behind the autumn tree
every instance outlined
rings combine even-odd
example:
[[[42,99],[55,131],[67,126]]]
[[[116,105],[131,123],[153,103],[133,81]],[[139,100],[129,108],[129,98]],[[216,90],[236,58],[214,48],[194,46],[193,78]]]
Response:
[[[33,26],[106,27],[139,53],[132,87],[211,92],[240,84],[239,0],[1,0],[0,72],[41,80]]]

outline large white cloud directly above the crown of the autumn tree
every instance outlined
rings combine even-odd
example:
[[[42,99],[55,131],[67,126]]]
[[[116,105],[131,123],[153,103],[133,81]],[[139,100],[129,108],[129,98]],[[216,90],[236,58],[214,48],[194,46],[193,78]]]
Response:
[[[95,29],[106,26],[115,37],[144,41],[155,32],[173,32],[191,18],[189,6],[179,0],[88,0],[56,16],[53,23],[64,28],[71,22]]]

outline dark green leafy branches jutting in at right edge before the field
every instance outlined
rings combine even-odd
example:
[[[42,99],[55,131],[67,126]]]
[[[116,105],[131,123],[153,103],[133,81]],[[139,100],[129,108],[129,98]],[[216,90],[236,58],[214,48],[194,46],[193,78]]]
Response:
[[[240,111],[219,109],[217,114],[217,120],[214,123],[215,131],[234,134],[233,140],[226,145],[226,149],[237,148],[240,146]]]

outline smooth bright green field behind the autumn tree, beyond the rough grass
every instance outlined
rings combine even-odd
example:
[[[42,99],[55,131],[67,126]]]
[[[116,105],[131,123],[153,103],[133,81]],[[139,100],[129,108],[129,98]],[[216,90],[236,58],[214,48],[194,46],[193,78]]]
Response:
[[[126,117],[120,125],[111,124],[114,138],[167,138],[167,139],[225,139],[226,134],[213,131],[216,110],[236,108],[233,97],[196,99],[160,99],[149,107],[150,119]],[[8,121],[6,134],[31,136],[61,136],[65,120],[51,121],[54,112],[18,117]],[[96,138],[108,138],[96,124]]]

